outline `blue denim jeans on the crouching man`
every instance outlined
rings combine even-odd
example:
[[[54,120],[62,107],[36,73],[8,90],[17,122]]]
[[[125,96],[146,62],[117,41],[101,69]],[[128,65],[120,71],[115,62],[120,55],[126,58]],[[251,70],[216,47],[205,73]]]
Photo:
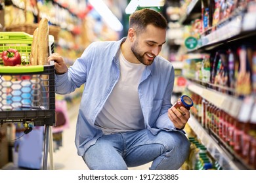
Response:
[[[127,170],[152,162],[149,169],[179,169],[188,157],[190,142],[181,131],[148,129],[103,135],[83,156],[89,169]]]

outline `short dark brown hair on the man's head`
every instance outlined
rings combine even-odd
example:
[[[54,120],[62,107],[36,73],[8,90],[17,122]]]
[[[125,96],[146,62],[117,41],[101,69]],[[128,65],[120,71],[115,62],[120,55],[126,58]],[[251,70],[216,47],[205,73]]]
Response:
[[[137,10],[129,17],[129,27],[135,28],[137,31],[143,31],[147,25],[167,29],[167,20],[160,12],[144,8]]]

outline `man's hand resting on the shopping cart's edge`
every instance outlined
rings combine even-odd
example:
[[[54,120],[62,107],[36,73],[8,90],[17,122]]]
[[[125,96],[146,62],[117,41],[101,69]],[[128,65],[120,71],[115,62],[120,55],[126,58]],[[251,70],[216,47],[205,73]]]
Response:
[[[60,54],[58,53],[51,54],[51,56],[48,57],[47,62],[50,63],[51,60],[54,61],[56,75],[62,75],[68,72],[68,67],[64,59],[62,58],[62,56],[60,56]]]

